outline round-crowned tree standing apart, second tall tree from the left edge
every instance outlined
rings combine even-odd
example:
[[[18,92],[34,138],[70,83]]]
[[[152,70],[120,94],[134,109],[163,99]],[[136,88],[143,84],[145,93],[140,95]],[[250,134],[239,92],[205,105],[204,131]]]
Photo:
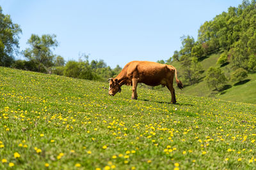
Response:
[[[55,55],[52,50],[58,46],[56,35],[44,34],[39,37],[36,34],[32,34],[28,39],[28,44],[31,48],[26,48],[24,56],[29,60],[35,60],[38,64],[38,71],[42,71],[42,67],[53,66],[53,60]]]

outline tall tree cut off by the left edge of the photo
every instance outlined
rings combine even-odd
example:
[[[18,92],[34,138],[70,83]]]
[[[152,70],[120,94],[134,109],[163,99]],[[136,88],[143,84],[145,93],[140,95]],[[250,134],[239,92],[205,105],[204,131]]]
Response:
[[[10,15],[4,15],[0,6],[0,66],[11,66],[13,53],[19,49],[20,33],[19,25],[13,24]]]

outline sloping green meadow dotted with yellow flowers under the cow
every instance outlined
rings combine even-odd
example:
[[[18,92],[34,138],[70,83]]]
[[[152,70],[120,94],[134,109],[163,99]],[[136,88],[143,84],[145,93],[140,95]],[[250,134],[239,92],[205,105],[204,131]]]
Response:
[[[0,67],[0,169],[255,169],[255,104],[170,100]]]

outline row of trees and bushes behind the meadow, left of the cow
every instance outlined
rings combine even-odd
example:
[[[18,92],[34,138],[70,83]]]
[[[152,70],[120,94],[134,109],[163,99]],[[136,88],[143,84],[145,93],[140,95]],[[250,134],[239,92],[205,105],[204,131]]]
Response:
[[[20,26],[13,24],[10,15],[4,15],[0,6],[0,66],[98,81],[106,81],[122,69],[120,66],[111,69],[103,60],[89,62],[85,54],[78,61],[66,63],[63,57],[53,52],[58,46],[54,34],[32,34],[28,39],[29,48],[19,52],[21,32]],[[22,55],[26,60],[15,60],[14,55]]]

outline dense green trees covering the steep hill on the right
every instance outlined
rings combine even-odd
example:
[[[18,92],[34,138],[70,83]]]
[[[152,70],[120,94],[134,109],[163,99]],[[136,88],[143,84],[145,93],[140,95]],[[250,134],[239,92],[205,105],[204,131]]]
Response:
[[[217,90],[227,80],[241,81],[247,73],[256,71],[256,1],[243,1],[237,8],[230,7],[227,12],[216,15],[205,22],[198,30],[198,40],[192,36],[181,38],[182,47],[164,61],[178,61],[182,66],[182,80],[186,85],[198,83],[202,79],[200,61],[212,53],[221,53],[218,67],[207,70],[205,80],[209,87]],[[232,73],[225,77],[220,67],[230,64]],[[237,78],[238,76],[238,78]]]

